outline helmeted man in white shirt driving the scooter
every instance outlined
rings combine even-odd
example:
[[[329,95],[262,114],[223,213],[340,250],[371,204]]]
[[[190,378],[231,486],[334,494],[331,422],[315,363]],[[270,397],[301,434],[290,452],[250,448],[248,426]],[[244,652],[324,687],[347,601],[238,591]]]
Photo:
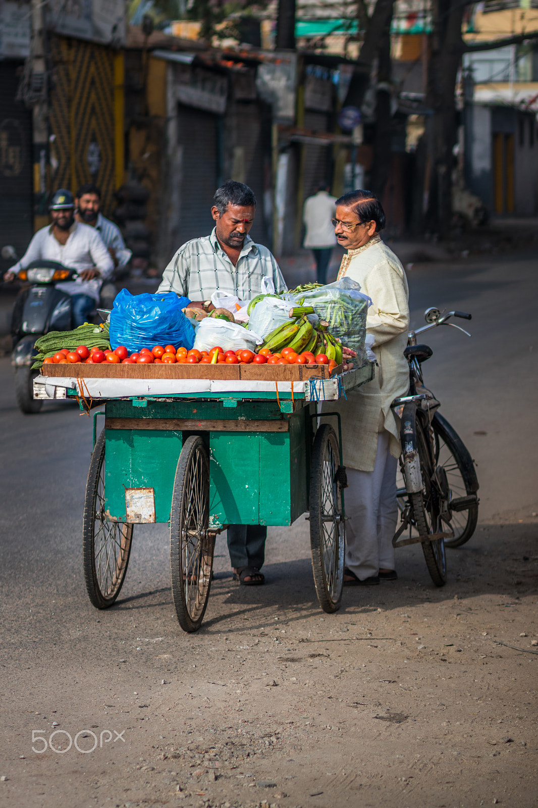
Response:
[[[77,280],[56,284],[72,298],[74,326],[82,326],[99,305],[99,290],[114,270],[114,263],[99,233],[74,220],[73,194],[60,188],[49,206],[52,225],[41,228],[33,236],[22,259],[6,272],[4,280],[14,280],[16,273],[32,261],[57,261],[78,271]]]

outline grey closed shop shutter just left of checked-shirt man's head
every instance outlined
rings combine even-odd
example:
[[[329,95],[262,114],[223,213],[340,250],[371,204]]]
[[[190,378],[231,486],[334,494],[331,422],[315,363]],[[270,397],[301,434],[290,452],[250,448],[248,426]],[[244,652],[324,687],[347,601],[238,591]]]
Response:
[[[178,146],[183,150],[179,210],[180,246],[191,238],[208,236],[215,222],[211,217],[217,183],[217,116],[212,112],[178,104]],[[176,247],[177,249],[177,247]]]

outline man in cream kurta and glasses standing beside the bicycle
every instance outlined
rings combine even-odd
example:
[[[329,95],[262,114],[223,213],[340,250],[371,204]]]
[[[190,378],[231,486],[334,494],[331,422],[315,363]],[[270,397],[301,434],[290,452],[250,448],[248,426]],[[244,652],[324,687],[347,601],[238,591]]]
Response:
[[[348,247],[338,278],[350,277],[372,298],[367,334],[379,365],[373,381],[347,393],[335,408],[342,415],[343,461],[347,466],[347,585],[397,578],[392,538],[397,524],[396,471],[401,452],[399,423],[390,409],[409,389],[403,351],[409,330],[409,291],[397,256],[380,239],[383,208],[369,191],[337,202],[335,234]],[[353,227],[353,229],[350,229]],[[357,244],[359,246],[353,246]]]

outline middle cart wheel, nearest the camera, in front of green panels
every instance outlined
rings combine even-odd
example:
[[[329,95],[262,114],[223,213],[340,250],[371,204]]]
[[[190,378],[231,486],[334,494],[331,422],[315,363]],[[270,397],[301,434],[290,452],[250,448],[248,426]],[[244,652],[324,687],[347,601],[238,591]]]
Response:
[[[191,435],[179,455],[170,515],[172,597],[183,631],[200,628],[208,605],[215,546],[208,524],[208,453],[204,441]]]

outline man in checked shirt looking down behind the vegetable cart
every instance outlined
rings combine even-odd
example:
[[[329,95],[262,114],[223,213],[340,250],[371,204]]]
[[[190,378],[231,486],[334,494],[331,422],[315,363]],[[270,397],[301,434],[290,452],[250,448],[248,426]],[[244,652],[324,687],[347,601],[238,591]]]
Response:
[[[212,234],[179,247],[158,292],[176,292],[206,310],[213,308],[210,297],[217,289],[250,300],[262,291],[264,277],[273,281],[275,292],[284,292],[287,287],[273,255],[249,236],[256,213],[256,197],[250,187],[229,180],[217,189],[213,201]],[[262,525],[229,525],[228,549],[235,580],[246,586],[264,583],[259,570],[265,561],[266,538],[267,528]]]

